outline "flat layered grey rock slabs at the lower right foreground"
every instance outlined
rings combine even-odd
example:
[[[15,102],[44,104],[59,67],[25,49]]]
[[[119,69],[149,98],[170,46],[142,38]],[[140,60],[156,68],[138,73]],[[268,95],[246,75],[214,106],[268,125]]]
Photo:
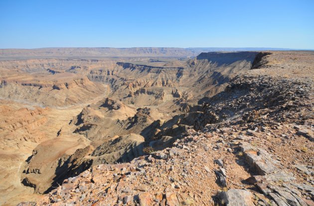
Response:
[[[241,143],[240,148],[250,167],[260,174],[253,176],[250,181],[256,183],[260,191],[265,196],[271,197],[278,206],[307,206],[308,201],[304,196],[312,196],[314,199],[314,187],[296,184],[293,174],[282,169],[280,162],[273,159],[267,151],[257,149],[248,143]]]

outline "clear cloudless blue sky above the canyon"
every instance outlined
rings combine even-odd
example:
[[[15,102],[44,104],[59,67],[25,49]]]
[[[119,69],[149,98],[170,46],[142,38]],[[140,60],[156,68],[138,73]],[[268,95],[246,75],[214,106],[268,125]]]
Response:
[[[314,49],[314,0],[0,0],[0,48]]]

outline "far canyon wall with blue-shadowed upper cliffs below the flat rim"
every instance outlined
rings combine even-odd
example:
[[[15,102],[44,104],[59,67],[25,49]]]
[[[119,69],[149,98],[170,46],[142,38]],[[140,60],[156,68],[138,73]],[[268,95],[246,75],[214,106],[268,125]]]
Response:
[[[88,77],[93,81],[110,84],[115,96],[135,105],[159,105],[178,96],[185,101],[195,102],[200,96],[209,97],[222,91],[224,84],[232,77],[251,69],[257,54],[258,52],[201,53],[182,67],[117,62],[111,69],[91,70]],[[143,88],[153,94],[149,101]],[[171,97],[173,93],[176,96]]]

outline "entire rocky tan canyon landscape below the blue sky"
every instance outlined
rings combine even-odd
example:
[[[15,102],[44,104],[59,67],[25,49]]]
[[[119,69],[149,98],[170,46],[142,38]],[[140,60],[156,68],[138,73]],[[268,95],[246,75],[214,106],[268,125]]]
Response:
[[[0,205],[314,205],[314,52],[61,51],[0,53]]]

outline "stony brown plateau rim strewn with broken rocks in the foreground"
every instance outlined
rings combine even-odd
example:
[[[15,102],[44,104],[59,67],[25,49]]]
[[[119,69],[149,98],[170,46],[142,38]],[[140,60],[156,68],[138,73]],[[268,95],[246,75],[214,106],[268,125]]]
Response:
[[[202,99],[194,129],[172,147],[93,166],[19,205],[313,206],[311,55],[264,56],[224,92]]]

